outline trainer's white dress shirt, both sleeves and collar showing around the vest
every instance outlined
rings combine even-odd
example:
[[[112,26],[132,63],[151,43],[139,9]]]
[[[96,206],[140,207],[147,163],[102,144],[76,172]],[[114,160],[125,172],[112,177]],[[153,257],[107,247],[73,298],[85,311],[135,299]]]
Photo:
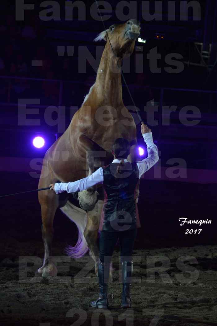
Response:
[[[157,146],[153,142],[152,132],[147,132],[145,134],[142,134],[142,136],[147,145],[148,157],[136,163],[139,169],[139,179],[141,178],[143,173],[147,172],[159,160]],[[119,159],[114,159],[112,163],[119,163],[120,161],[121,160]],[[124,162],[128,162],[128,160],[125,159]],[[55,183],[54,191],[56,192],[56,194],[59,194],[60,192],[63,191],[67,191],[68,193],[70,193],[70,192],[86,190],[92,187],[93,185],[102,184],[102,183],[103,183],[103,170],[102,167],[100,167],[98,170],[88,175],[88,177],[86,178],[74,182]]]

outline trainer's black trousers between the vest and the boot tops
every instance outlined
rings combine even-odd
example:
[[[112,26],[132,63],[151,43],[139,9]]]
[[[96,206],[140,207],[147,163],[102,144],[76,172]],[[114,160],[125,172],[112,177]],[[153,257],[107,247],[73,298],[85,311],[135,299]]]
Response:
[[[101,231],[100,232],[100,260],[110,262],[117,239],[120,243],[121,262],[132,259],[134,241],[137,236],[137,228],[126,231]]]

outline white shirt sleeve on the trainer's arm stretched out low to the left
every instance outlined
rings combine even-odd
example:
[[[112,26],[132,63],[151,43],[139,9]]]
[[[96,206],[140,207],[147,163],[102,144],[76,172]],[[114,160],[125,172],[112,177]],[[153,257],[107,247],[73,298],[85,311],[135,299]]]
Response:
[[[76,191],[82,191],[86,190],[89,187],[92,187],[96,184],[103,183],[103,170],[102,168],[99,168],[92,174],[88,175],[88,177],[77,180],[75,182],[57,182],[54,185],[54,191],[56,194],[59,194],[63,191],[70,192],[76,192]]]

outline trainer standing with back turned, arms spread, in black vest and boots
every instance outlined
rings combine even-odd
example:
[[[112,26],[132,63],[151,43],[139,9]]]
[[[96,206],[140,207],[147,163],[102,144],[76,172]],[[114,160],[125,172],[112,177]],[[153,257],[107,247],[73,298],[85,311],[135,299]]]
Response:
[[[142,136],[147,144],[148,157],[140,162],[130,163],[129,141],[118,138],[113,144],[114,160],[111,164],[100,167],[86,178],[75,182],[55,183],[50,190],[57,194],[62,191],[76,192],[102,184],[105,192],[104,219],[100,232],[99,287],[100,294],[92,307],[107,308],[107,289],[109,264],[117,239],[120,243],[122,263],[122,298],[121,307],[131,307],[129,295],[131,273],[133,270],[132,251],[137,235],[135,191],[142,174],[158,161],[157,146],[153,142],[151,129],[142,122]]]

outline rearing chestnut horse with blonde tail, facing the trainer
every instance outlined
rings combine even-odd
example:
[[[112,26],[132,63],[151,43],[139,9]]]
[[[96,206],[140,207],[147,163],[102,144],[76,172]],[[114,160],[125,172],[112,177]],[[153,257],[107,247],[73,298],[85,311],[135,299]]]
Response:
[[[96,81],[85,96],[81,108],[75,113],[63,135],[47,150],[39,180],[39,188],[55,182],[70,182],[94,172],[95,167],[112,161],[111,148],[114,141],[123,137],[132,144],[129,161],[134,160],[137,144],[136,125],[122,100],[121,63],[124,54],[131,54],[135,40],[140,35],[140,23],[129,20],[112,25],[95,38],[104,39],[106,45],[98,68]],[[109,40],[111,42],[111,48]],[[108,120],[109,119],[109,120]],[[94,161],[97,157],[98,162]],[[97,188],[97,190],[96,190]],[[97,236],[104,203],[102,185],[78,193],[80,207],[72,204],[69,194],[54,191],[38,192],[42,214],[42,238],[45,256],[38,272],[42,276],[55,276],[57,269],[50,256],[53,238],[53,220],[57,208],[61,208],[79,231],[75,247],[68,249],[73,258],[82,257],[89,249],[98,272],[99,250]]]

